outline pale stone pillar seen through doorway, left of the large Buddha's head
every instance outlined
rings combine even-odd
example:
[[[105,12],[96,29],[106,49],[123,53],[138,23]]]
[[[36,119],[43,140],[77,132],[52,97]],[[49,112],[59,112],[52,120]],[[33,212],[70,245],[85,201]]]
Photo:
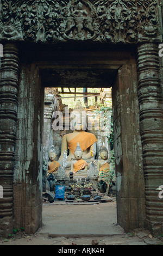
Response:
[[[43,120],[43,160],[48,161],[48,153],[53,144],[52,139],[52,115],[54,112],[55,97],[53,94],[46,94],[44,101]]]

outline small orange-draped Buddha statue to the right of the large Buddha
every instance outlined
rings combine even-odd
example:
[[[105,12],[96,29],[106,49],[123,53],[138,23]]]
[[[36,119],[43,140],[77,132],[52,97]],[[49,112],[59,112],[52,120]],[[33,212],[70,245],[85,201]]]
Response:
[[[99,155],[101,160],[98,160],[97,170],[99,172],[99,179],[105,180],[109,176],[109,160],[108,160],[108,149],[103,145]]]

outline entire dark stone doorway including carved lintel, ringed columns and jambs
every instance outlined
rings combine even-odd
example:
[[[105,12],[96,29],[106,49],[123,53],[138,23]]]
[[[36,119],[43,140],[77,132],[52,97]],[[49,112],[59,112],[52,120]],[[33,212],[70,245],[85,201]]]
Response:
[[[161,234],[163,208],[158,197],[158,187],[163,181],[162,59],[158,54],[158,44],[162,42],[161,2],[82,0],[69,1],[68,5],[64,0],[34,1],[34,5],[33,1],[1,2],[4,57],[0,186],[5,198],[0,200],[0,234],[10,233],[13,225],[23,225],[32,233],[39,227],[43,90],[54,87],[52,70],[85,67],[107,69],[107,81],[117,88],[113,90],[113,101],[121,206],[118,222],[126,230],[145,224],[153,233]],[[118,75],[112,77],[114,72]],[[133,100],[132,106],[126,105],[128,99]],[[135,124],[140,124],[140,130],[135,129]],[[125,131],[129,132],[129,138]],[[126,143],[127,139],[131,142]],[[126,161],[132,160],[131,155],[134,169]]]

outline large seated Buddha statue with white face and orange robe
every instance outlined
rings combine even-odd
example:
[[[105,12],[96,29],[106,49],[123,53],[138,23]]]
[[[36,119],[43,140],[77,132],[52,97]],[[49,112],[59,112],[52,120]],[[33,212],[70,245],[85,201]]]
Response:
[[[67,133],[62,138],[61,144],[61,156],[58,162],[62,166],[64,160],[64,151],[68,152],[66,160],[66,168],[71,167],[72,160],[75,159],[74,151],[77,148],[77,144],[80,144],[80,148],[83,151],[83,160],[90,163],[96,156],[96,142],[95,135],[89,132],[85,132],[87,127],[87,115],[80,101],[77,101],[71,115],[71,130],[72,133]]]

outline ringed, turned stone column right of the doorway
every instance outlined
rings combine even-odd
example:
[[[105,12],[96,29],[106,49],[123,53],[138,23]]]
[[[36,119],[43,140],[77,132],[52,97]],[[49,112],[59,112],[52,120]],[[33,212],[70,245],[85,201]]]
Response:
[[[157,44],[137,48],[140,132],[146,191],[146,228],[163,231],[163,203],[157,188],[163,185],[163,108]]]

